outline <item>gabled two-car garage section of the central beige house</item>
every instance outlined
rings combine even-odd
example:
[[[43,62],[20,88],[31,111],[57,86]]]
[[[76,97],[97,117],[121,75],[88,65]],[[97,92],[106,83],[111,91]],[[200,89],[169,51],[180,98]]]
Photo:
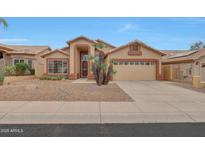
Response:
[[[142,42],[134,41],[113,49],[109,58],[116,74],[114,80],[159,80],[164,55]]]

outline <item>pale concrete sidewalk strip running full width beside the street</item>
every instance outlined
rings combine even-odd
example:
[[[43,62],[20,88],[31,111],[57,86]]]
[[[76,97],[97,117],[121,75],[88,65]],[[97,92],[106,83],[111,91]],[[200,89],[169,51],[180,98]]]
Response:
[[[150,106],[151,105],[151,106]],[[173,107],[133,102],[0,102],[0,124],[205,122],[205,104]],[[143,111],[141,110],[143,107]],[[196,110],[198,109],[198,110]]]

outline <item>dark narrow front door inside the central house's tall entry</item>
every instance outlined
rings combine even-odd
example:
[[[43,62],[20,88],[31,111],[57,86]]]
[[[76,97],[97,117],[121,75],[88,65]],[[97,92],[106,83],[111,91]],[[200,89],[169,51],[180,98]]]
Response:
[[[80,77],[86,78],[88,75],[88,61],[87,61],[87,52],[81,52],[80,54]]]

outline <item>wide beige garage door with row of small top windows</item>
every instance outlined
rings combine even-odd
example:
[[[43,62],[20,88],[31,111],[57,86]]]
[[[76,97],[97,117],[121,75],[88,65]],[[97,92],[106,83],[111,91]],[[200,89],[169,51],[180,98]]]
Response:
[[[156,80],[155,62],[114,62],[114,80]]]

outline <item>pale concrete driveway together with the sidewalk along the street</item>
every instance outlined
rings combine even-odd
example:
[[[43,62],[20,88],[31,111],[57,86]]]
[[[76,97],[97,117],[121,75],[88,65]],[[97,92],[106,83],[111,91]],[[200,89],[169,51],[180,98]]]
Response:
[[[116,82],[134,102],[1,101],[0,123],[205,122],[205,94],[158,81]],[[88,85],[89,86],[89,85]]]

